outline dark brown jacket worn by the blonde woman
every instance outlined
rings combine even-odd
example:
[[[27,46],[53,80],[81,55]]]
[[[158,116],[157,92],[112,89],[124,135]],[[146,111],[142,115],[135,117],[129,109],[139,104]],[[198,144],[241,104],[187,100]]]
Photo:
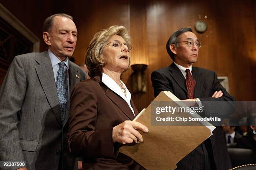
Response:
[[[118,153],[113,143],[113,127],[135,116],[122,97],[110,90],[102,75],[77,83],[71,93],[68,143],[71,153],[83,157],[85,170],[141,169],[130,157]]]

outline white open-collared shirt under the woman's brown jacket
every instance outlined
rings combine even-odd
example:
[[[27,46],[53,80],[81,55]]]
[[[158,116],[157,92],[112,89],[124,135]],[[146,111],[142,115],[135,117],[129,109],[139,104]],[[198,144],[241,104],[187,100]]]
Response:
[[[123,81],[120,80],[122,83]],[[116,94],[118,94],[120,97],[123,98],[123,100],[125,100],[128,104],[128,106],[130,107],[131,111],[134,114],[134,110],[133,107],[131,106],[131,93],[129,92],[128,88],[125,86],[125,84],[123,83],[124,88],[126,89],[126,96],[123,93],[123,90],[121,89],[121,87],[108,75],[106,75],[105,73],[102,72],[102,82],[108,86],[108,88],[110,88],[111,90],[113,90]]]

